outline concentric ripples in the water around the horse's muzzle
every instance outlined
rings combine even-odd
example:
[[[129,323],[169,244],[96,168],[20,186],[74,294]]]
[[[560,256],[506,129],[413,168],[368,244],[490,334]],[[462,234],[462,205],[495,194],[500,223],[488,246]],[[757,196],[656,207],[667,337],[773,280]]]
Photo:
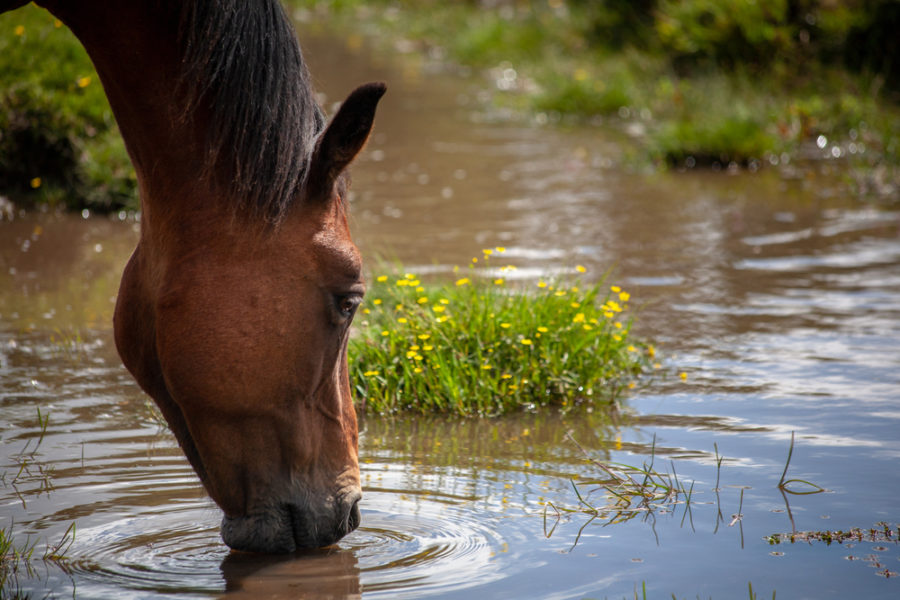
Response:
[[[336,547],[287,556],[229,553],[208,506],[130,516],[87,530],[69,556],[78,588],[94,598],[178,594],[210,597],[420,598],[509,576],[490,517],[439,496],[367,492],[363,525]],[[464,574],[464,575],[463,575]],[[286,597],[286,596],[285,596]]]

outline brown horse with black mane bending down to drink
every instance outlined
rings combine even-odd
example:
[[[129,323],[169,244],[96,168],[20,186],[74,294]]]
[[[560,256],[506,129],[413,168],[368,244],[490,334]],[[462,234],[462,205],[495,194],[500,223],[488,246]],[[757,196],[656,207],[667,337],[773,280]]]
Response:
[[[334,543],[361,497],[347,334],[364,284],[344,172],[384,86],[325,127],[278,0],[38,4],[87,49],[137,171],[122,361],[224,511],[225,543]]]

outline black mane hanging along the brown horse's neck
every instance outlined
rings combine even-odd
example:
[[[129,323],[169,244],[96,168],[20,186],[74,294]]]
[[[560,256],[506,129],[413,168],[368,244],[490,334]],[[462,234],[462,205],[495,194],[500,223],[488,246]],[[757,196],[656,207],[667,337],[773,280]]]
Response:
[[[206,168],[241,207],[278,222],[325,119],[279,0],[185,0],[185,116],[210,110]]]

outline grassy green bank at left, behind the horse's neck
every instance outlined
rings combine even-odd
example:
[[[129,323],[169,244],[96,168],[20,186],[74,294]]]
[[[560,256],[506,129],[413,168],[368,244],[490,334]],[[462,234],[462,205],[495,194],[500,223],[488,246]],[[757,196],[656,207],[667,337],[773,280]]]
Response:
[[[0,193],[136,208],[136,179],[87,53],[46,11],[0,15]]]

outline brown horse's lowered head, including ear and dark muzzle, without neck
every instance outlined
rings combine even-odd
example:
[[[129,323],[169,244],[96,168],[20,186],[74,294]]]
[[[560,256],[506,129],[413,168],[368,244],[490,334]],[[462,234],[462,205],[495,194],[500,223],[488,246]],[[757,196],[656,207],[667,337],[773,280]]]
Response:
[[[229,216],[166,228],[166,249],[154,256],[142,240],[123,277],[120,354],[224,511],[234,549],[325,546],[359,524],[347,339],[365,285],[345,168],[383,93],[370,84],[343,103],[277,226]]]

